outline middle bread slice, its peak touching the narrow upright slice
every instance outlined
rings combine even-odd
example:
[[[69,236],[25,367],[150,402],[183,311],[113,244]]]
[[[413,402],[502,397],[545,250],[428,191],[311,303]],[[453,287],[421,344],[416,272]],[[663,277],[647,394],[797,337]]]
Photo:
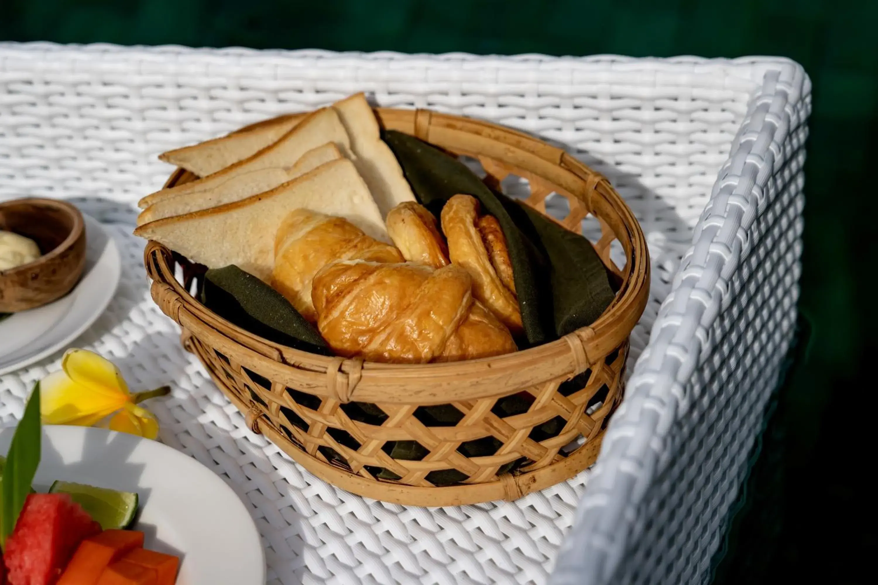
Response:
[[[350,140],[345,131],[342,121],[332,108],[323,108],[313,111],[299,125],[277,140],[274,144],[266,146],[258,153],[234,165],[223,168],[218,173],[207,175],[198,181],[187,182],[184,185],[156,191],[152,195],[145,196],[137,203],[140,208],[146,208],[159,199],[169,196],[195,193],[205,189],[212,189],[220,183],[226,182],[234,176],[242,175],[250,171],[263,168],[289,167],[302,157],[303,154],[317,146],[334,142],[342,154],[352,158],[350,154]]]

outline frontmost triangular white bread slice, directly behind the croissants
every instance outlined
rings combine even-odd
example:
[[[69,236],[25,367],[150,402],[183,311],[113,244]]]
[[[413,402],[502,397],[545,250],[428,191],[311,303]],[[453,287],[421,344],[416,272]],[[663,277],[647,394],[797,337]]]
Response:
[[[268,281],[277,227],[291,210],[302,208],[347,218],[372,238],[390,242],[369,188],[348,159],[235,203],[140,225],[134,235],[155,239],[207,268],[235,264]]]

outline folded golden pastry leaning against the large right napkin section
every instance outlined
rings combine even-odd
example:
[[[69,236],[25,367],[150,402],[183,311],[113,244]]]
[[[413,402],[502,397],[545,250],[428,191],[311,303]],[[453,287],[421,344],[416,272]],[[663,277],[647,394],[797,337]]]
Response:
[[[451,197],[442,210],[450,260],[472,277],[472,294],[515,334],[523,331],[506,238],[497,219],[479,217],[479,200]]]

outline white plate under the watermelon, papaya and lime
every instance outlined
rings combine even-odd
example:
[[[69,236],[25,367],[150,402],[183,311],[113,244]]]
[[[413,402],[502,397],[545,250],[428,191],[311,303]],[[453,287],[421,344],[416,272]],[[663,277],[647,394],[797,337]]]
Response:
[[[9,452],[14,429],[0,432]],[[136,530],[147,548],[182,560],[176,585],[264,585],[265,558],[253,519],[219,476],[169,446],[82,426],[43,427],[34,488],[55,480],[140,495]]]

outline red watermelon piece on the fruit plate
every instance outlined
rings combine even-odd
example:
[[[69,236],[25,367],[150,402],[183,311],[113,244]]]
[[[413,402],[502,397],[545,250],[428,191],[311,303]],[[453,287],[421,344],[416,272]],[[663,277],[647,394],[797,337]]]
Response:
[[[53,585],[79,543],[101,531],[67,494],[27,496],[4,551],[9,585]]]

